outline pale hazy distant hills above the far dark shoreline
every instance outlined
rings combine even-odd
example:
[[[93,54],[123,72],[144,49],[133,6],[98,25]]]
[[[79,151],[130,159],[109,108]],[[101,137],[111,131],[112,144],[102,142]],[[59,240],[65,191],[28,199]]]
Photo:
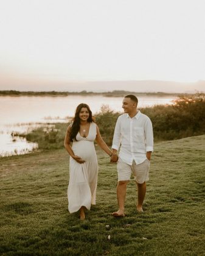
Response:
[[[205,92],[205,81],[198,82],[172,82],[161,80],[113,80],[113,81],[85,81],[85,82],[30,82],[13,81],[12,85],[0,82],[1,90],[16,91],[64,91],[81,92],[89,91],[94,93],[112,91],[133,91],[137,93],[198,93]]]

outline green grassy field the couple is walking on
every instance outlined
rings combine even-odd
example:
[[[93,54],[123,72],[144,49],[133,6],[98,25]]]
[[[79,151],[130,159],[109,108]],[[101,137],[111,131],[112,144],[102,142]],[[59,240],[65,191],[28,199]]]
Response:
[[[205,255],[204,145],[205,135],[156,144],[144,213],[132,179],[122,219],[111,216],[116,165],[99,149],[97,205],[85,221],[68,213],[65,150],[0,158],[0,254]]]

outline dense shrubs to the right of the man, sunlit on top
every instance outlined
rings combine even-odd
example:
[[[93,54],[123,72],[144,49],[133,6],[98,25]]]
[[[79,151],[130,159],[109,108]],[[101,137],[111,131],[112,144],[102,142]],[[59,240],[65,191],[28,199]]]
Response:
[[[181,96],[173,105],[156,105],[143,108],[153,123],[156,140],[178,138],[205,133],[205,94]]]

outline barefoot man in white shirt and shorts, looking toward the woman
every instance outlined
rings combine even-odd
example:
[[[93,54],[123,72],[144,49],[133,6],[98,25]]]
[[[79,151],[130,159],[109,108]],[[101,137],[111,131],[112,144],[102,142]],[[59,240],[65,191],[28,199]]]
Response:
[[[150,118],[137,110],[137,103],[136,96],[132,94],[125,96],[122,102],[124,114],[117,119],[114,130],[111,162],[117,162],[119,210],[112,215],[116,217],[125,216],[125,197],[131,172],[137,183],[136,209],[137,212],[143,212],[142,204],[146,193],[151,152],[153,152],[153,128]]]

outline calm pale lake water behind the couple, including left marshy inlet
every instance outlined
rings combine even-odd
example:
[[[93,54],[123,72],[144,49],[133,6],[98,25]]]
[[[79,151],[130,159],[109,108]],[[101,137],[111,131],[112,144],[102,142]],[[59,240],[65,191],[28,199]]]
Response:
[[[156,104],[172,104],[173,98],[139,97],[138,107]],[[103,104],[117,112],[122,112],[121,97],[103,96],[0,96],[0,156],[25,154],[38,148],[36,143],[28,143],[13,132],[25,132],[36,127],[36,123],[67,122],[74,115],[80,103],[86,103],[97,113]]]

